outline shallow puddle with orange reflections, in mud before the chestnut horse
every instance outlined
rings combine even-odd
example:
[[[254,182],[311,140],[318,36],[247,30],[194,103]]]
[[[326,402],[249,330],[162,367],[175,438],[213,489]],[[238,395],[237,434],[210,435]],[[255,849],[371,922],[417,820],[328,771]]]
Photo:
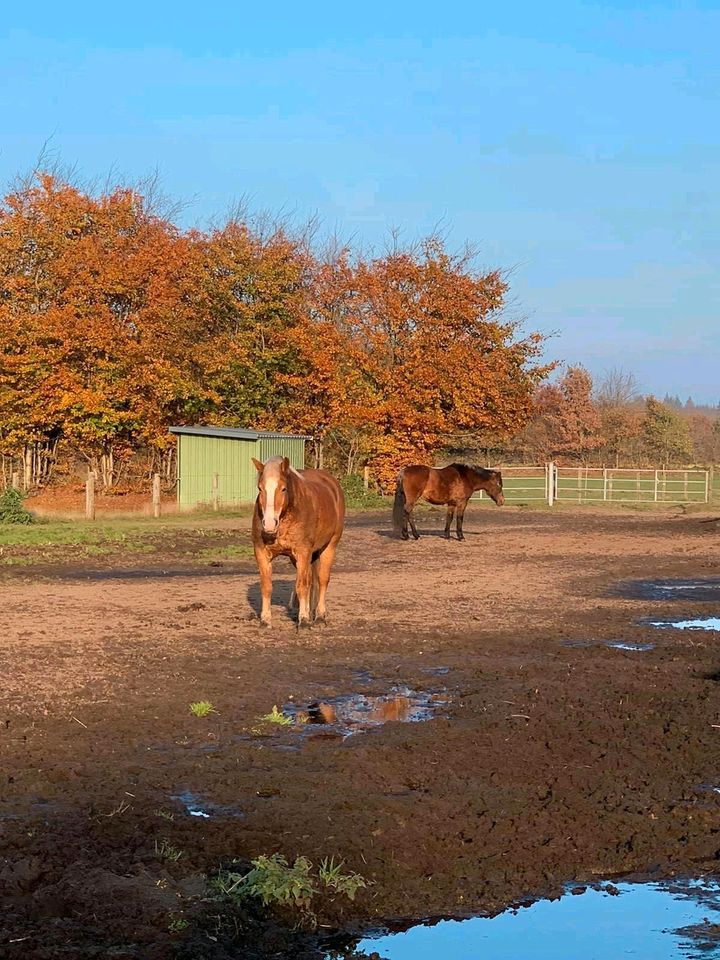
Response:
[[[287,703],[285,716],[302,727],[323,725],[343,729],[348,736],[384,723],[418,723],[438,716],[438,708],[447,703],[433,693],[398,687],[385,696],[351,693],[316,700],[306,707]]]

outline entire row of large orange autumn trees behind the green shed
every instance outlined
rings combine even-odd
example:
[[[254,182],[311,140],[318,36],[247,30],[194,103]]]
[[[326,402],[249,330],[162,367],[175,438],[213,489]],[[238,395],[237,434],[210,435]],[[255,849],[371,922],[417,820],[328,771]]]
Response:
[[[389,483],[448,437],[528,419],[547,368],[505,295],[436,238],[322,258],[280,228],[182,232],[134,190],[40,175],[0,207],[0,446],[63,443],[112,485],[173,422],[277,427]]]

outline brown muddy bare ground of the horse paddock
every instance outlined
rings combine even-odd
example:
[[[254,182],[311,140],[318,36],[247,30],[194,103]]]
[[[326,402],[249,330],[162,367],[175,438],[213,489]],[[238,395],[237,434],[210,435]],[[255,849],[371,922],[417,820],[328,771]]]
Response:
[[[720,868],[720,794],[703,789],[720,783],[720,634],[636,623],[718,615],[720,600],[618,589],[720,576],[718,523],[476,509],[458,543],[442,522],[402,543],[386,516],[351,517],[331,623],[303,633],[289,567],[263,631],[250,562],[194,564],[186,541],[180,562],[169,539],[159,557],[6,569],[0,956],[250,956],[204,878],[275,851],[373,881],[354,903],[322,898],[328,927]],[[239,518],[222,544],[235,529],[246,542]],[[598,642],[564,645],[579,640]],[[398,688],[435,718],[346,738],[257,719]],[[193,716],[197,700],[216,712]],[[173,799],[187,792],[209,818]]]

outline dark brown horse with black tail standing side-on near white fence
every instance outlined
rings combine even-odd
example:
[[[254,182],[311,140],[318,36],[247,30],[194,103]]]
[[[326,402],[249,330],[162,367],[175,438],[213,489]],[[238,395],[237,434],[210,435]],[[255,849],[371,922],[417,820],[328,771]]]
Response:
[[[445,537],[450,539],[450,524],[457,509],[458,540],[464,540],[462,521],[470,497],[477,490],[485,490],[499,507],[505,502],[502,492],[502,474],[499,470],[484,470],[468,467],[463,463],[451,463],[449,467],[436,469],[420,464],[405,467],[398,476],[393,507],[393,526],[396,535],[408,539],[408,524],[417,540],[420,534],[415,527],[412,511],[421,498],[429,503],[446,503]]]

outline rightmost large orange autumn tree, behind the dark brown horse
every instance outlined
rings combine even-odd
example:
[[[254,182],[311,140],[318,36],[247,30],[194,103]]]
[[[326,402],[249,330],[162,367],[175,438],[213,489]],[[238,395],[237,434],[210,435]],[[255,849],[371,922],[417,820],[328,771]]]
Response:
[[[528,415],[546,369],[540,338],[503,318],[506,283],[471,253],[437,238],[382,256],[344,250],[322,271],[315,323],[352,344],[353,415],[372,426],[375,472],[389,482],[409,460],[429,461],[448,434],[507,436]],[[355,424],[357,429],[357,424]]]

